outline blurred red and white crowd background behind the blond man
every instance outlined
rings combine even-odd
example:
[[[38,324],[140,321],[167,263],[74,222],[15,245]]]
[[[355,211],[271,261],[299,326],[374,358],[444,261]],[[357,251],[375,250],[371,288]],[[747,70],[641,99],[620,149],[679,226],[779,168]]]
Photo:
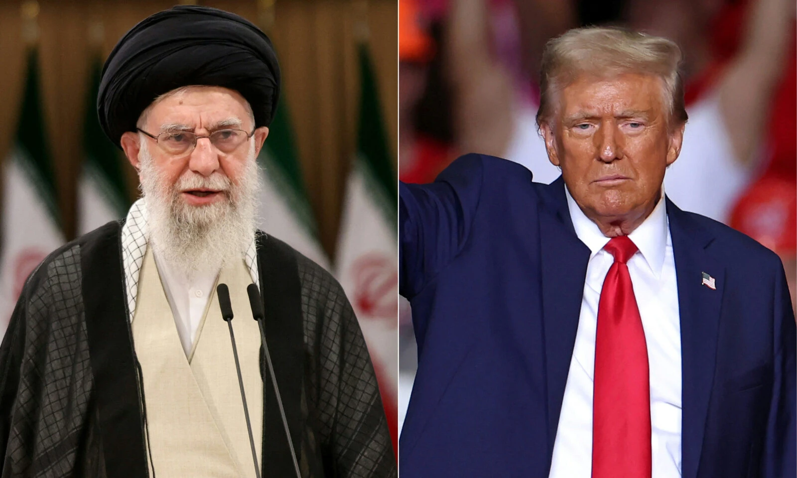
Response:
[[[779,253],[795,303],[794,0],[398,0],[399,178],[431,182],[476,152],[552,182],[535,116],[540,56],[567,29],[618,25],[684,53],[686,125],[665,192]],[[399,304],[399,424],[417,365]],[[400,425],[399,425],[400,426]]]

